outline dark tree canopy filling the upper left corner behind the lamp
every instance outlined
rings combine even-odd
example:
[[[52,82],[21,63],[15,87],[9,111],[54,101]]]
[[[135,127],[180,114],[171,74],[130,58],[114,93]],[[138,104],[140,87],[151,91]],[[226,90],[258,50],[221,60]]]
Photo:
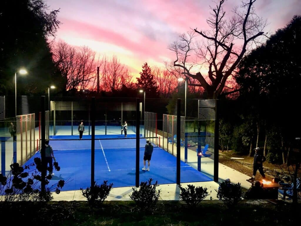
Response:
[[[48,11],[44,0],[3,0],[0,5],[0,93],[14,93],[14,73],[23,67],[28,74],[17,74],[17,95],[45,93],[51,82],[60,81],[48,45],[61,24],[59,11]]]

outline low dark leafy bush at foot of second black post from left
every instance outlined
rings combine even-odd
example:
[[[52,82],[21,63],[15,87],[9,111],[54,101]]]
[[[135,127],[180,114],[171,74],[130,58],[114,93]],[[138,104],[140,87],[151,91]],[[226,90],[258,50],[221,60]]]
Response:
[[[113,183],[107,184],[107,182],[107,180],[104,180],[103,184],[98,185],[96,181],[94,181],[93,188],[87,187],[86,190],[80,188],[80,190],[82,191],[82,195],[88,200],[91,206],[101,205],[107,198],[107,196],[110,194]]]

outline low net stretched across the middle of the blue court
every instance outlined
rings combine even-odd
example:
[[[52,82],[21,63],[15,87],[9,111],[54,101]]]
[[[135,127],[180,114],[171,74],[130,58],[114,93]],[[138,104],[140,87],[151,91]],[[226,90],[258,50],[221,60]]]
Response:
[[[154,142],[152,142],[154,138]],[[139,148],[144,148],[146,140],[154,147],[160,146],[159,137],[140,137]],[[53,151],[87,151],[91,152],[92,139],[49,139]],[[95,151],[127,151],[136,149],[136,138],[98,138],[95,139]]]

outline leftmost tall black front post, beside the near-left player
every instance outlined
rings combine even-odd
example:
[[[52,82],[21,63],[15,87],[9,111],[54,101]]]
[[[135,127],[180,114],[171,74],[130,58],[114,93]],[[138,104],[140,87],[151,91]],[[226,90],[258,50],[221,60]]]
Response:
[[[41,172],[41,191],[45,191],[45,177],[47,168],[45,167],[45,96],[41,96],[41,161],[42,161],[42,172]]]

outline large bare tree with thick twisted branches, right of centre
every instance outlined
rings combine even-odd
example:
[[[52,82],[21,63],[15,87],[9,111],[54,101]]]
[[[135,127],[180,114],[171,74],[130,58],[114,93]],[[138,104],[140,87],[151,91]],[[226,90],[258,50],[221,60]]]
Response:
[[[172,66],[181,68],[186,77],[196,79],[210,99],[222,93],[228,77],[244,54],[256,46],[256,38],[264,34],[262,30],[266,21],[256,15],[254,2],[256,0],[243,0],[242,11],[234,8],[233,16],[228,20],[223,10],[225,0],[217,2],[215,8],[210,7],[212,12],[207,19],[211,30],[196,28],[194,33],[182,34],[178,42],[169,46],[176,53]],[[201,40],[194,44],[195,34],[199,34]],[[191,54],[194,54],[194,59]],[[208,73],[205,75],[201,72],[203,70],[208,70]]]

